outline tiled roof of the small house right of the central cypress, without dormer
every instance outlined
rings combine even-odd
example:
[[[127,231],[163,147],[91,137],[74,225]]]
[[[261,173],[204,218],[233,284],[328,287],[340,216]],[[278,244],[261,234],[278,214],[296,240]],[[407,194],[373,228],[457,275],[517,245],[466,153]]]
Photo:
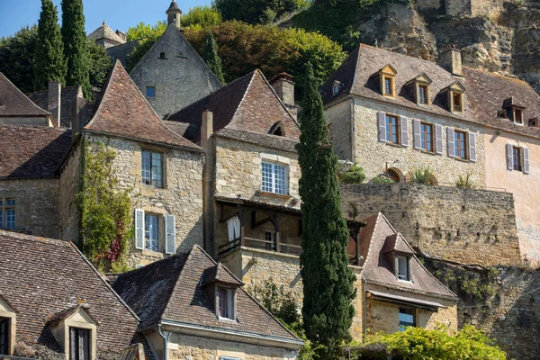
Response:
[[[382,284],[405,292],[425,293],[457,301],[455,293],[452,293],[433,275],[429,274],[428,270],[420,264],[419,259],[414,255],[410,257],[412,282],[399,281],[384,251],[387,238],[392,239],[392,235],[397,234],[396,230],[392,228],[390,222],[381,212],[363,221],[366,222],[366,226],[360,230],[359,241],[360,255],[365,258],[362,275],[364,275],[367,283]],[[401,252],[414,253],[405,238],[400,236],[394,238],[394,240],[396,243],[390,247],[396,247],[398,250],[402,250]]]

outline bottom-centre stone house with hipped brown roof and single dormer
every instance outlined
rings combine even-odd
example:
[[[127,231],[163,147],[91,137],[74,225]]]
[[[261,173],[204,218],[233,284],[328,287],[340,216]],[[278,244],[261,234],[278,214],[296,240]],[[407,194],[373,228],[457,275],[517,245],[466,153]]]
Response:
[[[242,285],[195,245],[174,257],[121,274],[112,286],[139,316],[139,336],[148,342],[148,357],[296,358],[302,340]]]

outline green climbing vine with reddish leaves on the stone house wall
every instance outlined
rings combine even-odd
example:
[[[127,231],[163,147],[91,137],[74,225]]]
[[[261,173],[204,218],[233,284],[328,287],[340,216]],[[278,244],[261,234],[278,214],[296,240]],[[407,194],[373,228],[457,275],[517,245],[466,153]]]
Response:
[[[82,145],[83,171],[76,205],[82,251],[101,271],[121,272],[133,238],[129,190],[121,190],[112,168],[116,152],[98,142]]]

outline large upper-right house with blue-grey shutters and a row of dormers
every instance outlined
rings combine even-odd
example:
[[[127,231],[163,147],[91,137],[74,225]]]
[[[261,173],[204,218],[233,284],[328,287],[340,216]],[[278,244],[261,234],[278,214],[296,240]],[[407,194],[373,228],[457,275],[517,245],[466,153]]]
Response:
[[[504,241],[512,247],[506,252],[505,263],[538,257],[540,223],[532,216],[532,207],[540,201],[533,186],[538,180],[540,96],[530,85],[463,67],[461,53],[453,47],[444,49],[439,66],[361,45],[322,92],[338,157],[357,162],[368,181],[378,175],[409,181],[411,172],[429,166],[435,173],[433,184],[455,186],[459,176],[468,174],[477,188],[513,193],[515,217],[504,202],[499,209],[511,211],[508,223],[518,228],[520,253],[511,245],[516,242],[512,230],[502,231]],[[463,226],[472,229],[483,219],[478,214]],[[470,263],[485,259],[473,255],[477,253],[474,248],[480,250],[482,237],[506,248],[500,243],[501,234],[495,236],[500,228],[491,225],[491,230],[482,225],[476,241],[466,244]],[[459,226],[450,235],[459,239]],[[426,241],[438,242],[436,236]],[[444,247],[432,255],[449,256]],[[448,258],[464,260],[455,255]]]

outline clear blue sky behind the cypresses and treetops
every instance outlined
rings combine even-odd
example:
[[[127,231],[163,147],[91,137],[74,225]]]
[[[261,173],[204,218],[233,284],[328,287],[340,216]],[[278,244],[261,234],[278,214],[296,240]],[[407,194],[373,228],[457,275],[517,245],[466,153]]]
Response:
[[[176,1],[184,13],[190,7],[211,3],[211,0]],[[61,0],[53,0],[53,3],[61,13]],[[103,20],[112,30],[121,31],[127,31],[128,27],[140,22],[153,24],[165,20],[169,4],[171,0],[84,0],[86,33],[94,31]],[[0,37],[13,35],[23,26],[38,23],[40,11],[41,0],[0,0]]]

